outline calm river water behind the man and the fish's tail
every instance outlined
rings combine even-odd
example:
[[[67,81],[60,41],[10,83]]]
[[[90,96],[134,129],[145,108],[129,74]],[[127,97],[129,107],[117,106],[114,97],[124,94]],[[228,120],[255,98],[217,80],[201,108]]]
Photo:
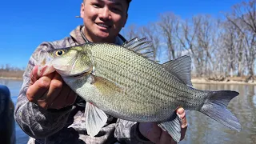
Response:
[[[17,102],[18,92],[22,81],[0,79],[0,84],[10,88],[11,98]],[[226,126],[215,122],[213,119],[198,111],[186,111],[189,127],[182,144],[198,143],[230,143],[240,144],[256,143],[256,86],[234,84],[194,84],[200,90],[236,90],[240,94],[234,98],[228,109],[239,119],[242,131],[230,130]],[[28,141],[28,136],[16,124],[17,144]]]

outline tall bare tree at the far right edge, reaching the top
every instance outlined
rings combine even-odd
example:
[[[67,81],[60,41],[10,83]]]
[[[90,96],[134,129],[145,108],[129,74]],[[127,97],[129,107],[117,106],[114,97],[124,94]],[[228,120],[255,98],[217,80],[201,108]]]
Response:
[[[254,81],[254,59],[255,59],[255,36],[256,36],[256,10],[255,0],[242,2],[235,5],[230,14],[226,14],[227,20],[242,33],[244,52],[249,77],[246,81]]]

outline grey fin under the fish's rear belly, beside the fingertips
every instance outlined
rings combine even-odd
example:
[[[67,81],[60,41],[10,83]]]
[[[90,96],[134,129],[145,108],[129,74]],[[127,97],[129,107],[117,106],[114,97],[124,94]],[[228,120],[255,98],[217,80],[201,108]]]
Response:
[[[178,118],[177,114],[174,120],[168,122],[159,122],[158,126],[161,127],[162,130],[167,131],[168,134],[170,134],[170,136],[174,138],[174,141],[180,141],[182,128],[181,119]]]

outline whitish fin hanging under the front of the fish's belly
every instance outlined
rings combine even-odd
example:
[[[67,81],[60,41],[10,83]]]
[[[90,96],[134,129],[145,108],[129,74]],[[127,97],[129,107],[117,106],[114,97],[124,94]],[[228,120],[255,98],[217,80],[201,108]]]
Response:
[[[95,136],[106,124],[107,116],[103,110],[98,109],[90,102],[86,102],[86,130],[90,136]]]

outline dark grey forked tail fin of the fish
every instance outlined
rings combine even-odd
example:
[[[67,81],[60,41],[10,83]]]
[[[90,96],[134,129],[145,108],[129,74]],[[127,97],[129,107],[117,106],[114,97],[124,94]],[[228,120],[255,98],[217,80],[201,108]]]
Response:
[[[200,112],[213,118],[217,122],[229,127],[233,130],[241,130],[241,124],[238,118],[234,116],[226,107],[230,100],[238,96],[238,92],[230,90],[210,91],[209,98],[206,99]]]

